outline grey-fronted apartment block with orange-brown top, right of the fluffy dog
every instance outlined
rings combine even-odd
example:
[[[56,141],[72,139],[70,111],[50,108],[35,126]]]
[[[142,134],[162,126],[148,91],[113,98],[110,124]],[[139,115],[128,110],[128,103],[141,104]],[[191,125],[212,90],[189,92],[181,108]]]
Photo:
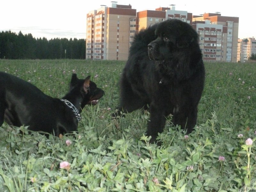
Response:
[[[192,25],[200,35],[204,61],[237,61],[238,17],[204,13],[193,16]]]

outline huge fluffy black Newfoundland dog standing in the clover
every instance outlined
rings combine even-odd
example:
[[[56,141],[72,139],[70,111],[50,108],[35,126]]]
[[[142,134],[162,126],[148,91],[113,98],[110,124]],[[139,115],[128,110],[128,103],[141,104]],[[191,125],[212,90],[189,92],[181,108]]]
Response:
[[[120,111],[149,106],[147,135],[154,142],[165,117],[190,133],[204,88],[204,63],[198,34],[186,22],[171,19],[141,30],[130,48],[120,80]]]

